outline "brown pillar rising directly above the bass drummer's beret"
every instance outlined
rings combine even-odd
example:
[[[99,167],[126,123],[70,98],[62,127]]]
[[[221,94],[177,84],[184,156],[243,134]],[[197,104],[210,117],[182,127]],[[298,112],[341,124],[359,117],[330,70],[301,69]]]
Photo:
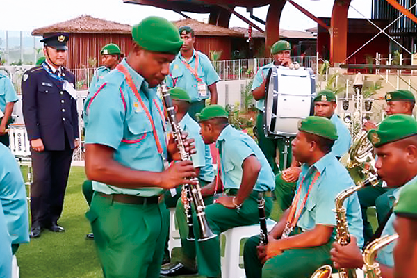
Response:
[[[272,44],[279,40],[279,19],[286,1],[273,1],[270,3],[265,24],[265,57],[270,56]]]

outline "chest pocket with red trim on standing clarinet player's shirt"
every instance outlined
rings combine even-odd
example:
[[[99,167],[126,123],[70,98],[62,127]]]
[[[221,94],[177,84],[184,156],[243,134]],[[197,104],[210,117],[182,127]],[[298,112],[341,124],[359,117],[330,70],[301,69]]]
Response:
[[[145,112],[135,113],[126,120],[126,132],[122,142],[140,143],[152,132],[152,126]]]

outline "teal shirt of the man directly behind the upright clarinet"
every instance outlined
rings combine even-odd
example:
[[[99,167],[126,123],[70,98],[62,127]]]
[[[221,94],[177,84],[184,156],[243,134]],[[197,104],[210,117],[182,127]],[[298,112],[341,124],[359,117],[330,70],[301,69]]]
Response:
[[[191,156],[195,168],[200,168],[199,178],[210,183],[214,180],[213,158],[211,158],[210,147],[204,144],[200,135],[200,126],[193,120],[188,113],[179,122],[181,129],[188,133],[190,138],[194,139],[195,154]]]

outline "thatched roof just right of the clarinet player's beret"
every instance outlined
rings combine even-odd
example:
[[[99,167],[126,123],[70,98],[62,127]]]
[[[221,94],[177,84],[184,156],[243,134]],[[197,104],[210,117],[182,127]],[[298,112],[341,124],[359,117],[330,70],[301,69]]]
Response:
[[[213,36],[227,36],[227,37],[243,37],[243,33],[234,31],[229,28],[219,27],[211,24],[199,22],[195,19],[183,19],[174,24],[179,28],[181,26],[190,26],[193,28],[195,35],[213,35]]]

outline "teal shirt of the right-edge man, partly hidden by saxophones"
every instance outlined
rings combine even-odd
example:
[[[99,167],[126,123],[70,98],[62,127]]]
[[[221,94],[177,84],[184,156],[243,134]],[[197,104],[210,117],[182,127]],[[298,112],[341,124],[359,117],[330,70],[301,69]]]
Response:
[[[395,190],[393,190],[393,192],[389,196],[390,199],[393,199],[394,202],[397,202],[401,195],[402,189],[416,182],[417,182],[417,176],[411,179],[411,181],[405,183],[404,186],[400,188],[395,188]],[[395,214],[392,213],[388,221],[386,222],[384,229],[382,230],[381,236],[386,236],[386,235],[391,236],[395,234],[395,229],[393,225],[394,221],[395,221]],[[381,250],[378,251],[377,259],[376,259],[378,263],[382,263],[383,265],[387,265],[391,268],[394,267],[393,252],[394,252],[395,243],[396,243],[396,240],[394,240],[393,243],[386,245],[385,247],[383,247]]]

